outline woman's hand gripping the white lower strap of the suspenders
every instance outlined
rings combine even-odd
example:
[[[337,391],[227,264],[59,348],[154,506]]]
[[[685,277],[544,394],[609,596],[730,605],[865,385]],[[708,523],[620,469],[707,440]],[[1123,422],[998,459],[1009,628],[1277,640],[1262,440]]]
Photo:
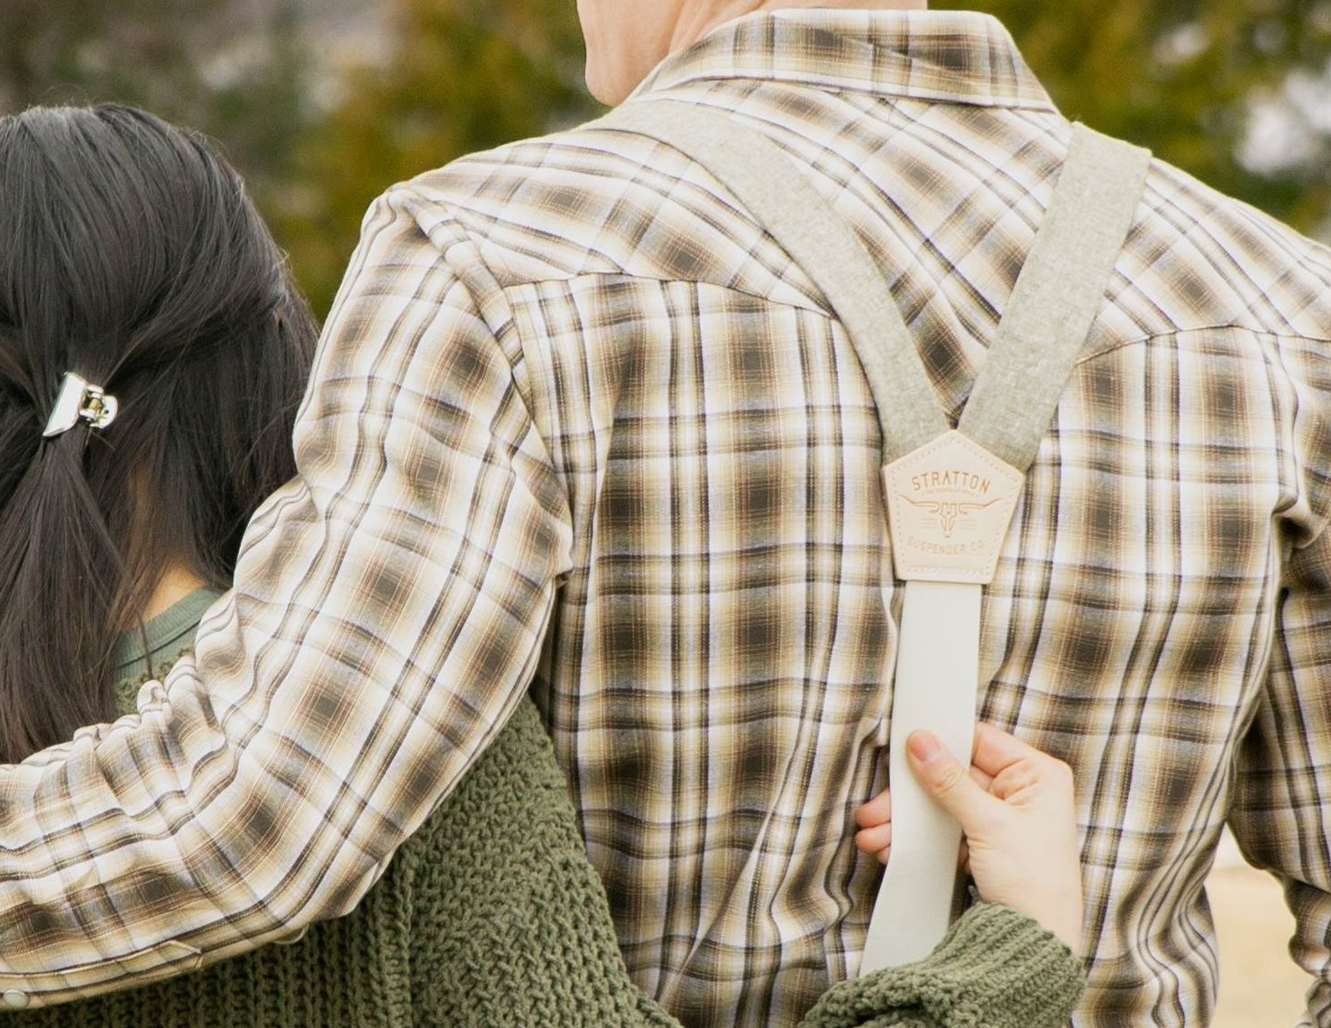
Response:
[[[906,740],[910,770],[961,822],[961,862],[980,895],[1025,913],[1081,952],[1081,847],[1073,774],[1062,760],[980,724],[969,772],[925,731]],[[856,811],[856,846],[884,863],[892,850],[886,791]]]

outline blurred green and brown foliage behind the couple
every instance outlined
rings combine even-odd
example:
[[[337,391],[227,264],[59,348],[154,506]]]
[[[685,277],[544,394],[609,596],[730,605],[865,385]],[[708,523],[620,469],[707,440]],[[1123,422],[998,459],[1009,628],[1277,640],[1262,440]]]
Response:
[[[1070,117],[1331,237],[1331,0],[934,7],[997,15]],[[390,182],[594,117],[582,61],[572,0],[0,5],[0,112],[124,100],[202,129],[321,314]]]

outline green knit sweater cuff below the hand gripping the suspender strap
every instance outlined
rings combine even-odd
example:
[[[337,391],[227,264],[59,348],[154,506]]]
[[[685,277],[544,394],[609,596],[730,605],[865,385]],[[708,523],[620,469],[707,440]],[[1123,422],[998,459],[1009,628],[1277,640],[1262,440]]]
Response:
[[[836,985],[804,1028],[1061,1028],[1083,984],[1081,963],[1051,933],[1008,907],[980,903],[924,960]]]

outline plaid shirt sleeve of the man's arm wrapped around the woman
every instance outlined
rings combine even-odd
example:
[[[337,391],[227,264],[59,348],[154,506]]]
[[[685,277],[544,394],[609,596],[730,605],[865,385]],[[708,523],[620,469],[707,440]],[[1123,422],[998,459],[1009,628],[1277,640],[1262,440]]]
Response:
[[[371,208],[196,656],[0,775],[0,991],[142,984],[350,909],[527,686],[566,497],[466,232]],[[164,502],[170,502],[165,498]]]

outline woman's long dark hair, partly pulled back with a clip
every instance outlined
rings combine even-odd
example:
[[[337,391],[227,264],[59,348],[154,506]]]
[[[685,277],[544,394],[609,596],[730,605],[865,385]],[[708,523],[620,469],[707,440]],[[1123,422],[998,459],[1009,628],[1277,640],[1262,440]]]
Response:
[[[0,760],[114,715],[166,565],[225,586],[315,340],[236,174],[126,107],[0,119]],[[120,405],[43,429],[67,372]]]

